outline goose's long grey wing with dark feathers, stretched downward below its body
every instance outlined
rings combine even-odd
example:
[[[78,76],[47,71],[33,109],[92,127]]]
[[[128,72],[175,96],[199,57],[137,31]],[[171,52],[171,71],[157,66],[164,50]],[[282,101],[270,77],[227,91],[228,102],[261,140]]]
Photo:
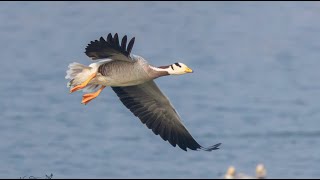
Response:
[[[172,146],[181,149],[212,151],[221,143],[208,148],[200,146],[185,126],[168,98],[160,91],[153,80],[136,86],[112,87],[121,102],[137,116],[143,124],[160,135]]]

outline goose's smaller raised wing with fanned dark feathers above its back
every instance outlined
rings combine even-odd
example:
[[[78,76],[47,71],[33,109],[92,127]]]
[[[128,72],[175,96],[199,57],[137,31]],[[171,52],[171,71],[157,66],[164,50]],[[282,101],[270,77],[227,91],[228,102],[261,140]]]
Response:
[[[92,60],[110,58],[112,60],[121,60],[132,62],[130,57],[133,48],[135,37],[133,37],[127,46],[127,36],[122,38],[121,45],[119,42],[118,34],[112,37],[111,33],[108,34],[107,40],[100,37],[99,40],[91,41],[86,47],[86,55]]]

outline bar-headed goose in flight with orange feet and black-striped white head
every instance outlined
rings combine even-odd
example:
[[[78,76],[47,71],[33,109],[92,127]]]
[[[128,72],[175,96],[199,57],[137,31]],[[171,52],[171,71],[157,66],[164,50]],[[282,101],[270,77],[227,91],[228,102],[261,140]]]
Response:
[[[193,71],[185,64],[177,62],[168,66],[156,67],[142,57],[131,54],[135,37],[127,46],[127,36],[121,42],[118,34],[109,33],[105,40],[91,41],[85,54],[93,61],[89,66],[79,63],[69,64],[66,79],[69,79],[70,93],[83,90],[82,103],[87,104],[101,91],[110,86],[120,101],[154,134],[184,151],[212,151],[219,149],[221,143],[204,148],[199,145],[186,127],[180,116],[161,92],[153,79],[167,75],[180,75]]]

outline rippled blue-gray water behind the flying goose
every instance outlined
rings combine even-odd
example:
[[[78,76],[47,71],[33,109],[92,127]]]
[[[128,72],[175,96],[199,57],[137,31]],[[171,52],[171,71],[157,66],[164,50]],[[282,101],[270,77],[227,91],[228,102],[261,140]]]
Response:
[[[320,176],[319,2],[1,2],[0,176]],[[71,62],[109,32],[195,73],[156,80],[203,146],[173,148],[106,88],[69,94]]]

